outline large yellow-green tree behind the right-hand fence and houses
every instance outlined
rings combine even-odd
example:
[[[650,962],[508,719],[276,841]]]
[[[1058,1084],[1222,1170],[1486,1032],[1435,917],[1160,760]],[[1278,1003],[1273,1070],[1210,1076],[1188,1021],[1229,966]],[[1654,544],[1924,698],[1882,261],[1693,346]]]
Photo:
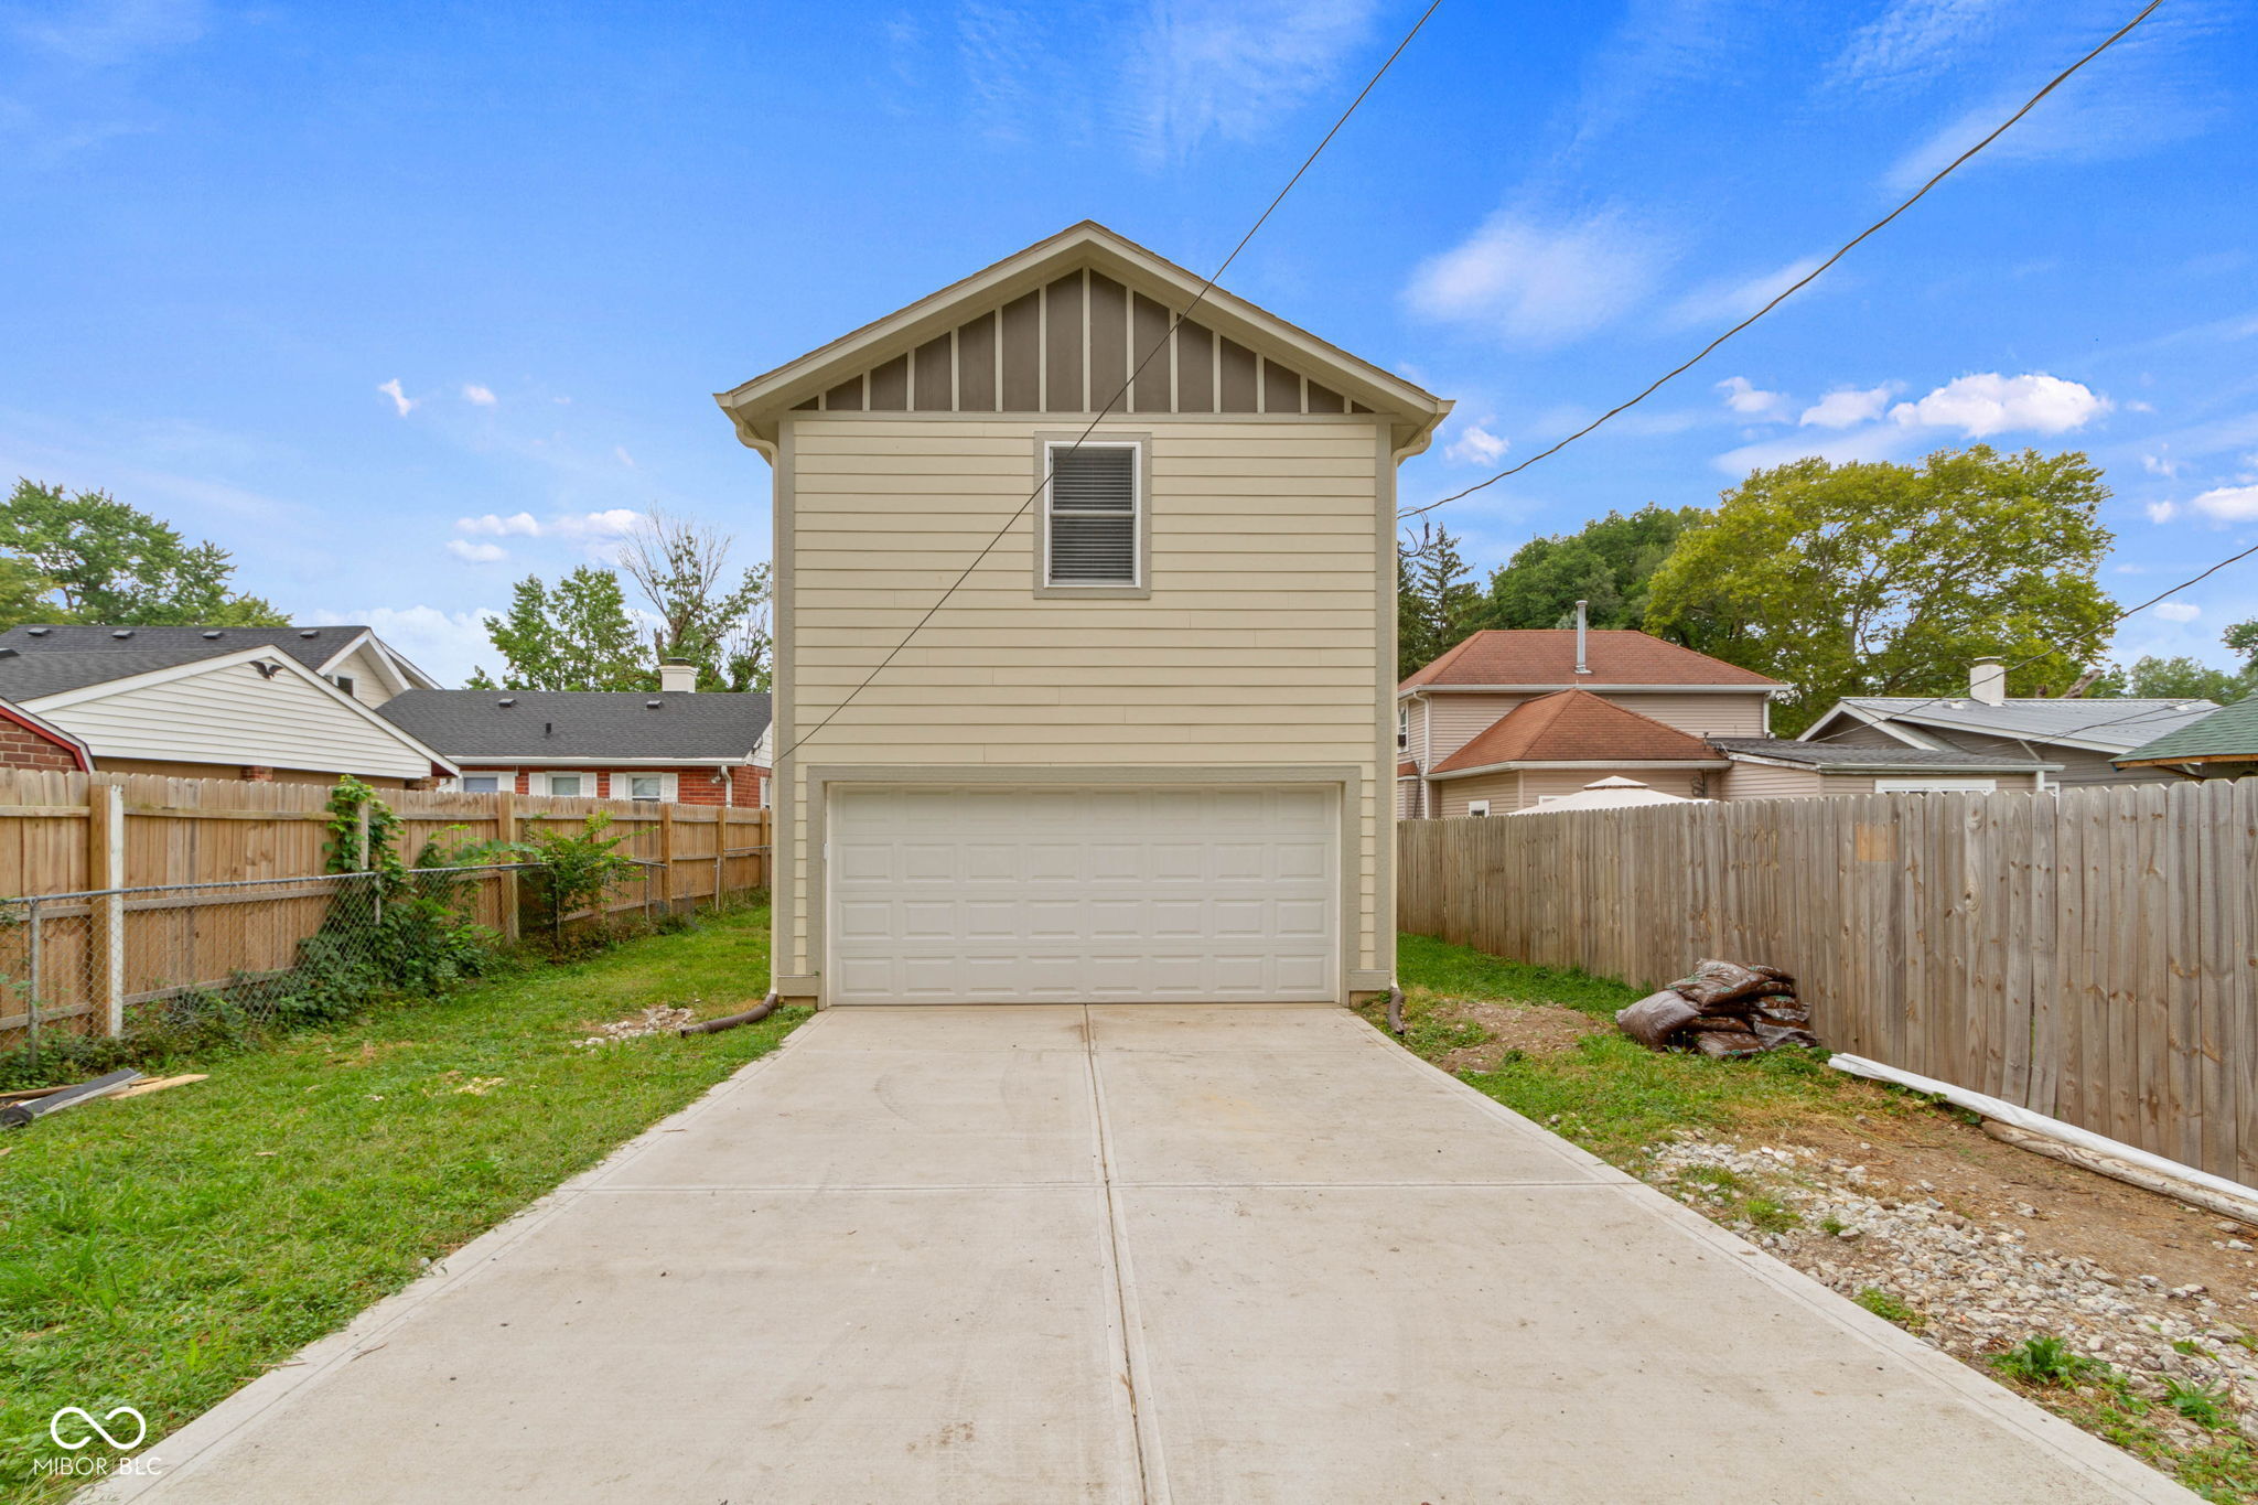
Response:
[[[1845,695],[1964,693],[1998,654],[2010,693],[2064,690],[2100,654],[2109,496],[2082,454],[1937,451],[1919,467],[1759,469],[1655,571],[1646,630],[1795,688],[1793,736]]]

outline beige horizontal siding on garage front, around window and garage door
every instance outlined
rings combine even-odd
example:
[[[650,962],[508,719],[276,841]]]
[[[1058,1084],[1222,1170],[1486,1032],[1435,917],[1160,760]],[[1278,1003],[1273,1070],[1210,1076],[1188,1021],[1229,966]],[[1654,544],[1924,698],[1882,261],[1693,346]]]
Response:
[[[1377,420],[1100,424],[1095,438],[1149,442],[1147,600],[1034,593],[1034,435],[1052,426],[788,420],[777,539],[788,736],[808,736],[1005,528],[786,769],[790,891],[808,894],[806,776],[820,765],[1355,765],[1362,790],[1344,819],[1359,853],[1359,914],[1344,918],[1353,966],[1386,966],[1377,866],[1395,711],[1382,706],[1380,614],[1393,562],[1382,557]],[[822,968],[804,903],[784,950],[779,972]]]

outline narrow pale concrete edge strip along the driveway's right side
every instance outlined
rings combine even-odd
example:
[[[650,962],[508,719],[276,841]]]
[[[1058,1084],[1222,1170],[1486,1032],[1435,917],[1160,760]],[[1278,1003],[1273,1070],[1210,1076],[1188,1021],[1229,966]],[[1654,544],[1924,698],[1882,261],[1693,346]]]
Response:
[[[2123,1491],[2125,1498],[2129,1500],[2152,1500],[2156,1505],[2202,1505],[2202,1496],[2193,1494],[2183,1485],[2174,1482],[2170,1476],[2141,1462],[2132,1453],[2118,1451],[2116,1446],[2102,1442],[2093,1433],[2086,1433],[2064,1422],[2062,1417],[2046,1410],[2043,1406],[2037,1406],[2034,1401],[2025,1401],[2014,1390],[2007,1390],[1998,1381],[1985,1379],[1978,1370],[1971,1370],[1951,1354],[1928,1347],[1926,1343],[1922,1343],[1906,1329],[1897,1327],[1894,1322],[1883,1322],[1865,1306],[1858,1306],[1856,1302],[1836,1295],[1831,1288],[1811,1279],[1809,1275],[1786,1264],[1784,1259],[1775,1259],[1763,1248],[1750,1243],[1748,1239],[1741,1239],[1727,1227],[1712,1223],[1709,1218],[1700,1216],[1678,1198],[1666,1196],[1664,1191],[1657,1191],[1637,1176],[1628,1176],[1621,1169],[1608,1164],[1605,1160],[1599,1160],[1590,1151],[1569,1144],[1567,1139],[1551,1133],[1542,1124],[1520,1112],[1513,1112],[1495,1097],[1459,1081],[1450,1072],[1427,1060],[1420,1060],[1409,1049],[1393,1045],[1384,1036],[1380,1038],[1380,1042],[1393,1049],[1395,1056],[1409,1063],[1414,1070],[1427,1074],[1429,1079],[1447,1083],[1450,1090],[1470,1099],[1484,1112],[1508,1119],[1513,1124],[1529,1126],[1540,1135],[1558,1142],[1572,1155],[1605,1169],[1608,1180],[1619,1196],[1642,1203],[1646,1209],[1662,1216],[1671,1227],[1675,1227],[1694,1243],[1703,1243],[1716,1250],[1718,1255],[1745,1261],[1752,1275],[1773,1284],[1788,1300],[1811,1309],[1820,1318],[1849,1331],[1867,1347],[1903,1361],[1928,1383],[1969,1401],[1971,1406],[1996,1417],[2005,1426],[2012,1426],[2014,1431],[2030,1437],[2034,1444],[2048,1449],[2050,1453],[2057,1453],[2066,1464],[2091,1476],[2095,1482]]]

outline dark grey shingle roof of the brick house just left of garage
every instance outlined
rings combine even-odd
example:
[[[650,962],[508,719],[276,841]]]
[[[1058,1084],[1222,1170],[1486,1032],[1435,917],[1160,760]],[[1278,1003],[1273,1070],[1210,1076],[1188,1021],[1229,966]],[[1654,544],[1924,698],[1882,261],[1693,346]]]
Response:
[[[456,763],[476,758],[745,758],[768,695],[686,690],[406,690],[377,706]]]

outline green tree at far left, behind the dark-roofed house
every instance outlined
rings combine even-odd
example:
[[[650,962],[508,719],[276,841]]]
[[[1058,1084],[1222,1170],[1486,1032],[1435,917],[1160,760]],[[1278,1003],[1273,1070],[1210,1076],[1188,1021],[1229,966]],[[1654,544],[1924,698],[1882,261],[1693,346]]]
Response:
[[[0,505],[0,551],[45,578],[63,621],[129,627],[287,627],[257,596],[228,589],[235,575],[219,544],[190,546],[176,528],[108,492],[70,492],[16,481]]]

